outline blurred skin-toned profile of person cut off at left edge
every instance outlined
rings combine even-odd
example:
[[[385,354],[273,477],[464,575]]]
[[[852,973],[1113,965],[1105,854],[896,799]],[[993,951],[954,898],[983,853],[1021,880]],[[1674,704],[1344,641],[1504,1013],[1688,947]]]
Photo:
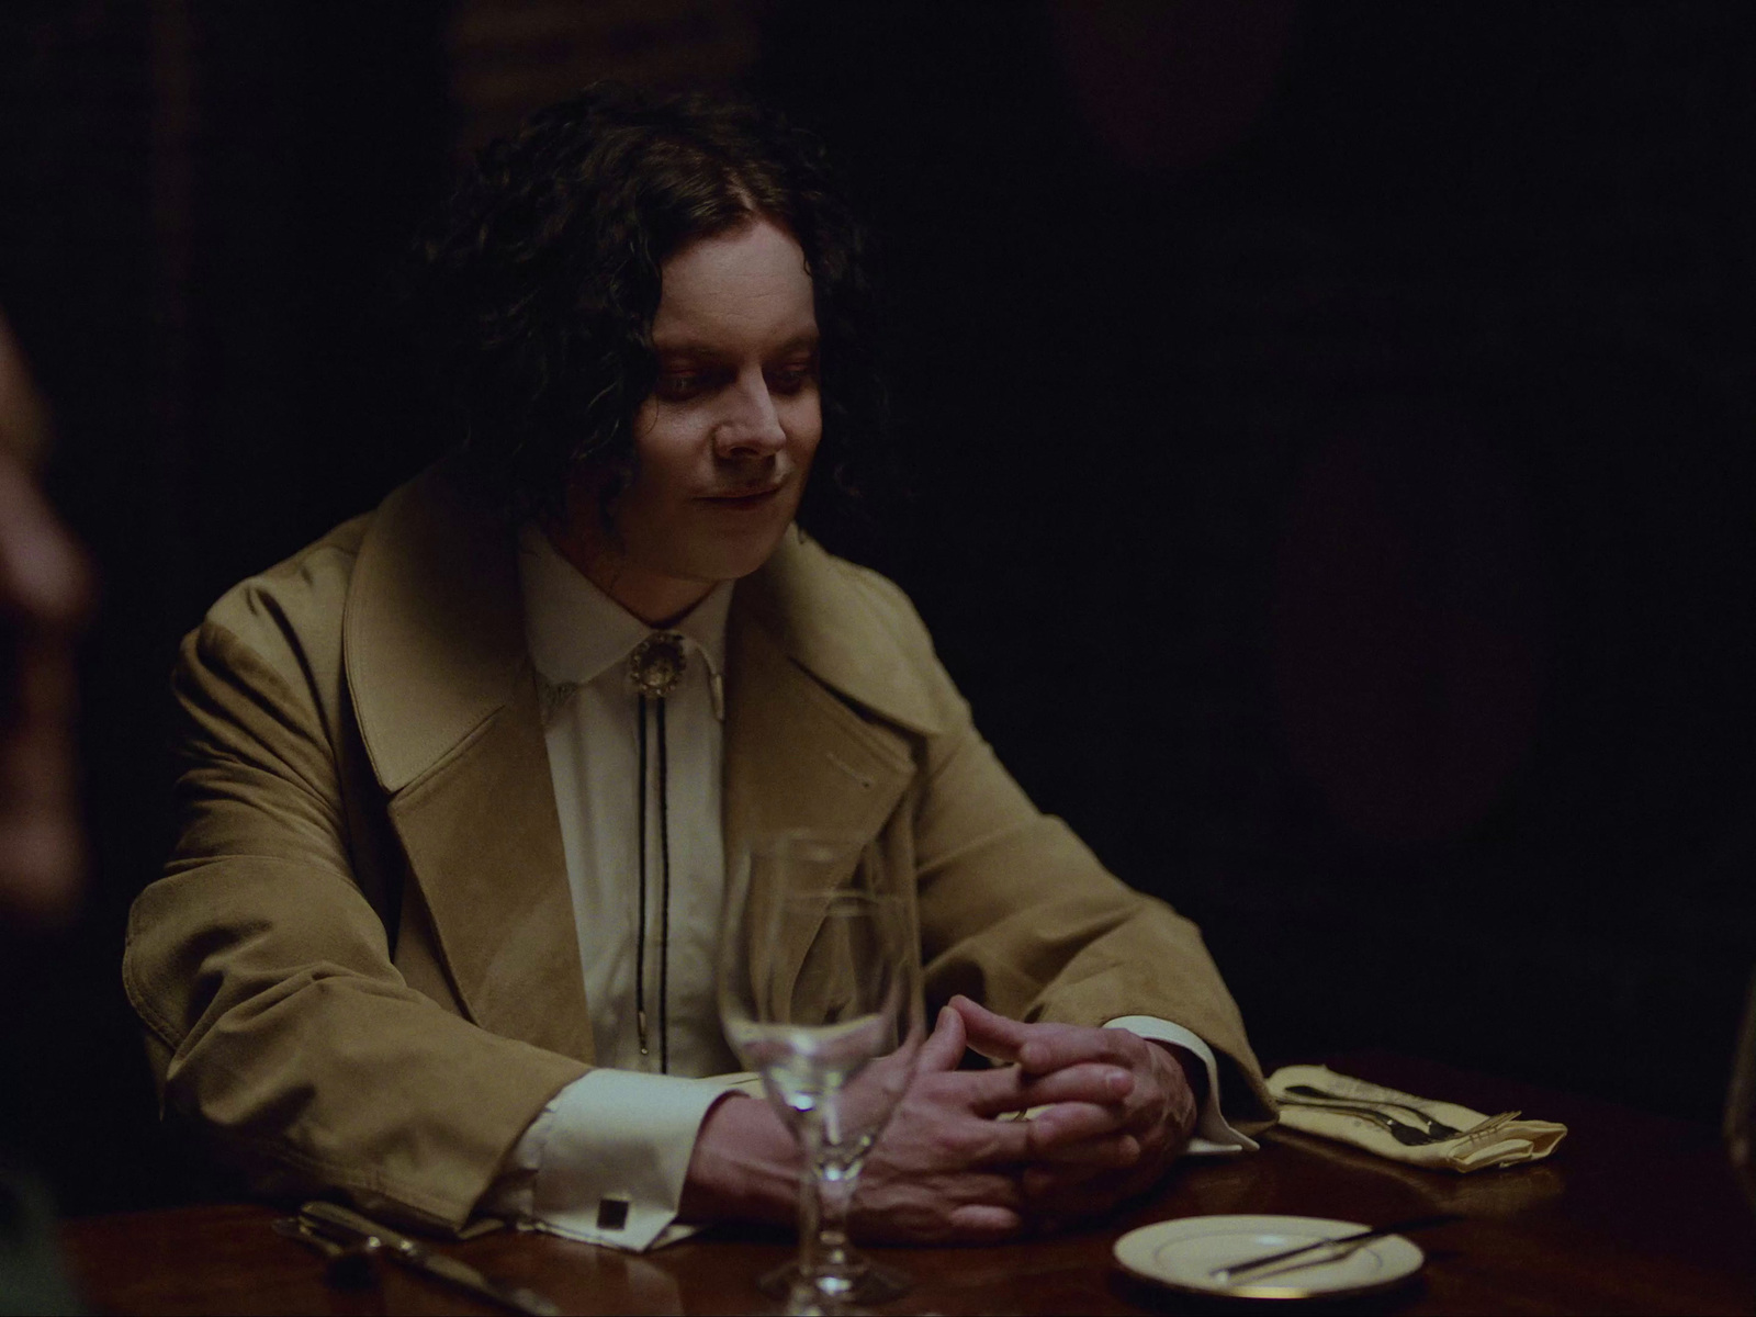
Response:
[[[79,890],[72,641],[84,555],[37,492],[35,399],[0,323],[0,925]]]

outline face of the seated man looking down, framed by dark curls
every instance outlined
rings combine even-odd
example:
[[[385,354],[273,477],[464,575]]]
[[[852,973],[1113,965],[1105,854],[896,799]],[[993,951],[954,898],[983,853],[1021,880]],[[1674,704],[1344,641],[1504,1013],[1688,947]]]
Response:
[[[585,485],[562,550],[657,623],[760,567],[799,507],[824,434],[802,249],[767,220],[683,248],[664,263],[651,342],[658,383],[634,418],[620,543],[592,532]]]

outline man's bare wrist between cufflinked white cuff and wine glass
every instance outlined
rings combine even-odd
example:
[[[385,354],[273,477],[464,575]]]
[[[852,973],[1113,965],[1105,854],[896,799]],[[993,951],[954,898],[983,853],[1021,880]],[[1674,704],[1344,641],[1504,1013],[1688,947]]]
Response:
[[[797,1141],[767,1103],[732,1092],[701,1122],[678,1217],[788,1224],[797,1191]]]

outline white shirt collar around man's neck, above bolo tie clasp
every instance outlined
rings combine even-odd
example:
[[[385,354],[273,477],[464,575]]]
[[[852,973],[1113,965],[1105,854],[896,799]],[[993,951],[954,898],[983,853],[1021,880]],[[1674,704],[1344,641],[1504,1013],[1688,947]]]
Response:
[[[532,525],[518,532],[518,583],[525,597],[530,662],[550,681],[595,681],[655,630],[592,585]],[[715,676],[725,667],[730,604],[732,583],[720,581],[669,627],[694,643]]]

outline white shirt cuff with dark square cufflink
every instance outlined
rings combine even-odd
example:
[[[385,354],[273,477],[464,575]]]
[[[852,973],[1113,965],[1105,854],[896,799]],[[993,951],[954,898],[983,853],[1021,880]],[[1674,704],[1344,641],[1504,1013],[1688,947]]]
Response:
[[[697,1226],[676,1220],[688,1159],[708,1110],[738,1080],[630,1069],[581,1075],[513,1145],[483,1212],[630,1252],[694,1234]]]

